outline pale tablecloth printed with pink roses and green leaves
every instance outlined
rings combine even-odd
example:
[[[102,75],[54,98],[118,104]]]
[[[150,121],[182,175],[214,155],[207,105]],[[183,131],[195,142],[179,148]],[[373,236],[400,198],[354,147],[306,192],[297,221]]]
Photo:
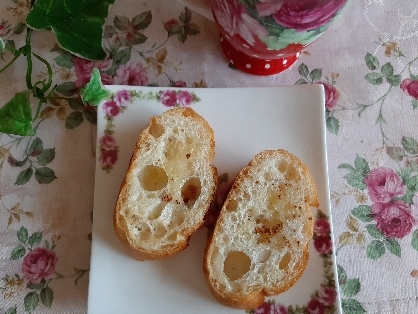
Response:
[[[24,43],[29,8],[29,0],[1,1],[6,46]],[[94,67],[105,84],[323,84],[343,310],[418,313],[417,44],[415,0],[351,1],[290,70],[269,77],[235,70],[215,24],[177,1],[116,0],[103,38],[109,57],[101,62],[35,31],[32,49],[51,64],[57,88],[34,135],[0,133],[0,313],[86,312],[96,111],[79,92]],[[0,51],[0,67],[11,58]],[[23,61],[0,73],[0,107],[26,89]],[[44,63],[35,60],[33,69],[34,79],[47,80]],[[321,302],[305,307],[323,309]],[[273,312],[268,304],[256,311]]]

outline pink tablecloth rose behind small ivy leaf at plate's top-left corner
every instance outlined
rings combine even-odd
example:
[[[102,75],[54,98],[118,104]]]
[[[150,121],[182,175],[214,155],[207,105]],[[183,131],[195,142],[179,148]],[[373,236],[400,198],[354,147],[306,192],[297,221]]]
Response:
[[[74,82],[76,87],[83,86],[90,81],[91,72],[93,71],[93,68],[98,68],[101,72],[100,77],[102,79],[103,84],[110,85],[113,83],[112,77],[109,74],[103,72],[111,67],[111,59],[106,59],[104,61],[89,61],[83,58],[74,57],[73,64],[74,73],[77,77],[77,80]]]

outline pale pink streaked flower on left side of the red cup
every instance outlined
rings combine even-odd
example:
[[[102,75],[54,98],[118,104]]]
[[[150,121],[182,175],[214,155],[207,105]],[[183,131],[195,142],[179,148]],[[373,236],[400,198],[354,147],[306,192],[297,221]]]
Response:
[[[256,37],[268,35],[268,31],[238,1],[219,0],[212,8],[218,23],[231,36],[240,35],[247,43],[254,45]]]

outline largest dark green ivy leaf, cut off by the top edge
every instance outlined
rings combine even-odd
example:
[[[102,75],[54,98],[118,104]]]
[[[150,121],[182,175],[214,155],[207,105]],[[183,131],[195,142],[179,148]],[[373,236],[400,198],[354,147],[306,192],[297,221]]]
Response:
[[[26,17],[32,28],[51,28],[60,45],[86,59],[102,60],[103,25],[115,0],[37,0]],[[65,5],[64,5],[65,3]]]

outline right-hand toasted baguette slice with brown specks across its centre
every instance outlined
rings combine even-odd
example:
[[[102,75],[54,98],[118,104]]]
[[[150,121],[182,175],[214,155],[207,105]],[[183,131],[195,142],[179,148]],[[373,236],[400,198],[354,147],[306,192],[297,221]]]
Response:
[[[251,309],[304,272],[317,207],[308,168],[285,150],[263,151],[243,168],[206,246],[203,270],[224,305]]]

